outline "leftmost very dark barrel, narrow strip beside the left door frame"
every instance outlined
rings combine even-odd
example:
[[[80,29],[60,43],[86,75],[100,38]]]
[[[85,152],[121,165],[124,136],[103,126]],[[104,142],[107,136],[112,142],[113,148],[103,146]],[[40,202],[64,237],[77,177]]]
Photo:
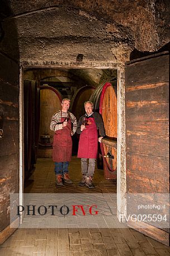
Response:
[[[25,80],[23,85],[24,100],[24,161],[25,179],[30,176],[32,151],[32,86],[31,81]]]

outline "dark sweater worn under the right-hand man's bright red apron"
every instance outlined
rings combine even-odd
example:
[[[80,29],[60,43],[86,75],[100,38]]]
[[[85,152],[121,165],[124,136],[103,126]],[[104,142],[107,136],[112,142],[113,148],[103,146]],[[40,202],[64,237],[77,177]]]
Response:
[[[86,117],[86,115],[82,115],[79,119],[79,123],[77,125],[76,133],[81,134],[80,127],[82,124],[83,118]],[[105,129],[104,129],[104,123],[101,115],[98,112],[94,112],[93,115],[90,115],[90,117],[94,118],[96,127],[99,129],[99,134],[101,137],[105,137]],[[86,117],[87,118],[87,117]]]

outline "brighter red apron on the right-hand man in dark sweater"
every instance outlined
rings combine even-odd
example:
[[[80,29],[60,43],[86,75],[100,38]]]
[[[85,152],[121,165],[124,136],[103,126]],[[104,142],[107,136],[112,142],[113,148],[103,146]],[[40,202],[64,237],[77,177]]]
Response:
[[[86,129],[81,132],[77,157],[96,159],[98,152],[98,130],[94,118],[88,118]]]

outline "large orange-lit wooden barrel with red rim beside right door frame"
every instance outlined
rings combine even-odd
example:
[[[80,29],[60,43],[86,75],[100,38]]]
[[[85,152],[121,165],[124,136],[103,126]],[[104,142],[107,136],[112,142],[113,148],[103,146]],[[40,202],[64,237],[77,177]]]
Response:
[[[116,179],[117,97],[116,86],[105,83],[101,91],[99,113],[103,117],[106,138],[100,144],[105,179]]]

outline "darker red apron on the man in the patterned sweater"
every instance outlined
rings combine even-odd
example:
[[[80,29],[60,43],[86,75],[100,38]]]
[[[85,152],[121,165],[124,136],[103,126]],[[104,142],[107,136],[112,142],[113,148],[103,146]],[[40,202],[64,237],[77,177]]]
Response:
[[[64,122],[65,117],[62,117],[61,123]],[[53,140],[52,159],[54,162],[70,162],[72,152],[72,139],[71,139],[71,119],[65,127],[58,130],[54,134]]]

